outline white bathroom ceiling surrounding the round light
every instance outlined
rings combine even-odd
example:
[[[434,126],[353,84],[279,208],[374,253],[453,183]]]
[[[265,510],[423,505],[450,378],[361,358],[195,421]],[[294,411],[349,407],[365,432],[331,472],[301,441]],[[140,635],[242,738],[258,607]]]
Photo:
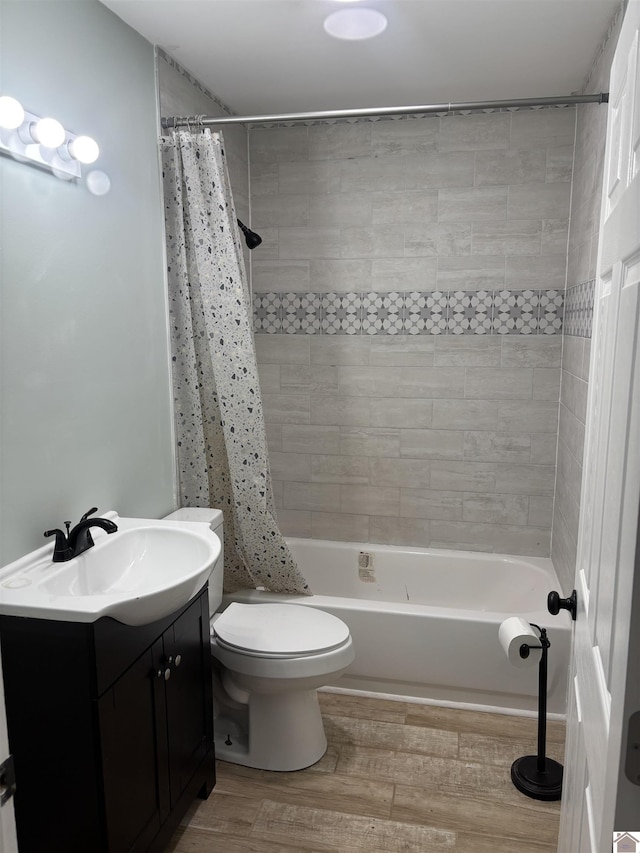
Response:
[[[102,0],[240,115],[567,95],[620,0]],[[386,30],[339,41],[347,5]]]

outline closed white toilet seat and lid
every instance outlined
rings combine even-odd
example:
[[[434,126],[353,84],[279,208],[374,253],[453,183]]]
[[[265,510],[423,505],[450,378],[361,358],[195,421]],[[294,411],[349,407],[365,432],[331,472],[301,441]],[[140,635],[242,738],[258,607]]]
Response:
[[[322,654],[350,641],[341,619],[299,604],[233,602],[212,630],[218,644],[230,651],[271,659]]]

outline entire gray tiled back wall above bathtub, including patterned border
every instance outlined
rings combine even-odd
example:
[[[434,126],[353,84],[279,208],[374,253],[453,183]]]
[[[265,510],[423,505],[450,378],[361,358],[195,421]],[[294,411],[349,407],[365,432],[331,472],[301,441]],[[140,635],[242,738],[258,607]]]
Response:
[[[289,535],[548,555],[575,111],[250,132]]]

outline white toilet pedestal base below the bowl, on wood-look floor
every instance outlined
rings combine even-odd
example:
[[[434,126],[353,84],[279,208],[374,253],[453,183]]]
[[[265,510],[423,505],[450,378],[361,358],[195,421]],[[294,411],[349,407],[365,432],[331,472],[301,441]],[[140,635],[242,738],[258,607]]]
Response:
[[[302,770],[327,750],[317,690],[253,693],[249,734],[233,729],[228,712],[214,719],[216,758],[261,770]]]

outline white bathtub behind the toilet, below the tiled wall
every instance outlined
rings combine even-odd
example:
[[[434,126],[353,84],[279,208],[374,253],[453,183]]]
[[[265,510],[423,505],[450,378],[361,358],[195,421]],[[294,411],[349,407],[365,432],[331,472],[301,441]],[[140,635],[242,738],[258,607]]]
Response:
[[[565,714],[571,621],[550,616],[559,590],[551,560],[471,551],[287,539],[312,596],[241,590],[222,607],[284,602],[347,623],[356,658],[335,687],[412,701],[527,714],[538,707],[538,667],[512,666],[498,642],[508,616],[547,628],[548,712]],[[331,687],[331,685],[330,685]]]

